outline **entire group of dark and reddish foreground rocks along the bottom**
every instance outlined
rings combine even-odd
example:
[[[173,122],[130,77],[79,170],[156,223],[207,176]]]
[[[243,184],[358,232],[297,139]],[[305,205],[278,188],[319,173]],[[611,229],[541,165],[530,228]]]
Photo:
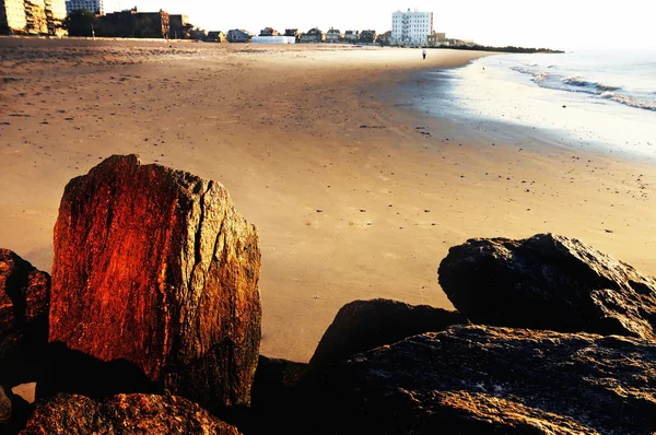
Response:
[[[656,281],[582,242],[468,240],[458,311],[352,302],[309,363],[258,355],[259,270],[219,183],[134,155],[71,180],[51,286],[0,250],[0,432],[656,433]],[[8,388],[34,378],[36,405]]]

